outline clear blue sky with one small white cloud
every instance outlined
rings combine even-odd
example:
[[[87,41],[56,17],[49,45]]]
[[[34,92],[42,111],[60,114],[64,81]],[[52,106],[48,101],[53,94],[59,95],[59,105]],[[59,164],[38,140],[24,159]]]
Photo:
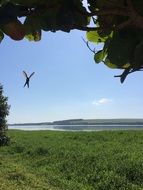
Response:
[[[85,33],[43,33],[40,42],[13,41],[0,45],[0,83],[11,105],[9,123],[74,118],[143,118],[143,73],[124,84],[121,70],[95,64],[81,37]],[[33,71],[23,88],[22,71]]]

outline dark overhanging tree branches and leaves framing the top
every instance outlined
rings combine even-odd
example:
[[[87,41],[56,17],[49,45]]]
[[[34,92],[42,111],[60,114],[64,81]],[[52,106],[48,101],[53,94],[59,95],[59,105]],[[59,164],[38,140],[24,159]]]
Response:
[[[143,69],[143,1],[87,3],[88,10],[83,0],[1,0],[0,40],[4,34],[14,40],[26,37],[39,41],[42,31],[86,31],[88,41],[103,44],[101,50],[93,52],[95,62],[124,69],[116,76],[124,82],[129,73]]]

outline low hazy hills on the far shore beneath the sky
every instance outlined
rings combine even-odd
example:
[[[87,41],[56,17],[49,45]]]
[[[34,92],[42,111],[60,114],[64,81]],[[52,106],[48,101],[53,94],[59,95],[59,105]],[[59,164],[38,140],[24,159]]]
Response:
[[[143,125],[143,119],[68,119],[40,123],[14,123],[12,125]]]

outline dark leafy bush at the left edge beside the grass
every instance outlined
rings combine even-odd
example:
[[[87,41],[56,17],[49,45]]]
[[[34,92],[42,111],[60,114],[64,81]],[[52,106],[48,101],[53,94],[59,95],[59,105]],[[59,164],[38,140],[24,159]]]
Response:
[[[6,116],[9,114],[8,98],[3,95],[3,86],[0,84],[0,146],[8,143],[6,136],[7,123]]]

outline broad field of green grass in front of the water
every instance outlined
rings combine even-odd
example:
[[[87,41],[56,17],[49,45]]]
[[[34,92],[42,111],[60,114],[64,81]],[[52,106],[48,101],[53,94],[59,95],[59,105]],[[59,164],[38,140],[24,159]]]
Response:
[[[143,190],[143,131],[9,131],[0,190]]]

